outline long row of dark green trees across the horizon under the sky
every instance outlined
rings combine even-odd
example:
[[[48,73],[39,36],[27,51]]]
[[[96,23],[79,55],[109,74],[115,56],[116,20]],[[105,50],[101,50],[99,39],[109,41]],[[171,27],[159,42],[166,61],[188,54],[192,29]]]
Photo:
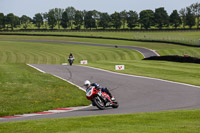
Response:
[[[23,26],[27,29],[33,23],[38,29],[54,29],[58,26],[64,29],[71,28],[80,30],[85,29],[134,29],[140,27],[141,29],[150,29],[156,27],[162,29],[164,27],[172,26],[175,29],[181,25],[185,29],[188,26],[190,29],[197,26],[199,29],[200,22],[200,3],[191,4],[188,7],[182,8],[180,11],[173,10],[168,15],[164,7],[156,8],[153,10],[142,10],[139,14],[136,11],[121,11],[108,14],[106,12],[80,11],[74,7],[66,9],[54,8],[45,13],[37,13],[33,18],[26,15],[18,17],[13,13],[4,15],[0,13],[0,30],[12,30],[16,27]]]

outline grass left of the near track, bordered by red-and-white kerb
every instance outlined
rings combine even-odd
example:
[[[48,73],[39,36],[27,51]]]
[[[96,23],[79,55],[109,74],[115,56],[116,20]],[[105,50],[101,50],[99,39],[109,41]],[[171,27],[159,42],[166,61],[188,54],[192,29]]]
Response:
[[[74,85],[25,64],[0,64],[0,70],[0,116],[90,104]]]

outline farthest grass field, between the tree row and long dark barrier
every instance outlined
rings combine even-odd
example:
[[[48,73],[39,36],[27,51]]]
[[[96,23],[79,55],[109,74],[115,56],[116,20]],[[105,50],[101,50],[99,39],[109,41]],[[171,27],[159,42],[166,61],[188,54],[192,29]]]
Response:
[[[26,34],[57,34],[92,37],[114,37],[136,40],[159,40],[199,45],[200,31],[149,31],[149,32],[14,32]]]

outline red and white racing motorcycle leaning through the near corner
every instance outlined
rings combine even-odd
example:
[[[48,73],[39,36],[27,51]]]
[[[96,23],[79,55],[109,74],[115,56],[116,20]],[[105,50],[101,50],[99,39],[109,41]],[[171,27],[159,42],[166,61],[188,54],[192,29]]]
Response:
[[[94,86],[90,86],[86,90],[86,98],[88,100],[91,100],[93,105],[99,108],[100,110],[104,110],[106,107],[119,107],[118,102],[112,101],[107,93],[102,92],[101,89],[95,89]]]

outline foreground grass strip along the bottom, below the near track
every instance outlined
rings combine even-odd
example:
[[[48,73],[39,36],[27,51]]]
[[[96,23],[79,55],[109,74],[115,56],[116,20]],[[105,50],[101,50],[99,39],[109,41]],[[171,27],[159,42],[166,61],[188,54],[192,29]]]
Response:
[[[200,110],[0,123],[2,133],[199,133]]]

